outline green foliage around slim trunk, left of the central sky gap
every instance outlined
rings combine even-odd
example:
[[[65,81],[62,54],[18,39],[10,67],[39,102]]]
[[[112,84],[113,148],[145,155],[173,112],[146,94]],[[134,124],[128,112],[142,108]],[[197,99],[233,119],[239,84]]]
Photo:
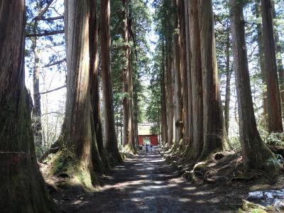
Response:
[[[124,5],[122,1],[111,1],[111,74],[114,89],[114,109],[118,119],[122,119],[122,100],[126,93],[122,93],[122,70],[126,66],[124,33]],[[131,23],[129,45],[131,48],[131,68],[133,81],[133,98],[136,102],[136,116],[138,122],[144,120],[143,105],[145,96],[142,84],[143,77],[149,69],[149,44],[147,34],[151,29],[151,13],[143,0],[130,1],[126,13]]]

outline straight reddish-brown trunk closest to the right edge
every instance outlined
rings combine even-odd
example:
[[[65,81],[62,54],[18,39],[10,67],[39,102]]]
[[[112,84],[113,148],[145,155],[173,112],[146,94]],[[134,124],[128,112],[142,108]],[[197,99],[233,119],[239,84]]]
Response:
[[[283,132],[281,117],[281,101],[278,86],[278,73],[273,35],[271,0],[261,0],[261,17],[263,25],[264,67],[266,69],[268,132]]]

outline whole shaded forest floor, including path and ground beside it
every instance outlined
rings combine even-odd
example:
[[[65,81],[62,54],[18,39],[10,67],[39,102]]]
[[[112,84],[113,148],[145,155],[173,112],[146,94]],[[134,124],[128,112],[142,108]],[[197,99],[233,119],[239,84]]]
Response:
[[[46,169],[42,165],[43,174]],[[57,185],[60,178],[47,182],[56,187],[50,187],[50,192],[64,212],[236,212],[250,187],[275,184],[267,180],[190,183],[157,150],[131,155],[100,180],[97,192],[84,192],[80,187],[62,190]]]

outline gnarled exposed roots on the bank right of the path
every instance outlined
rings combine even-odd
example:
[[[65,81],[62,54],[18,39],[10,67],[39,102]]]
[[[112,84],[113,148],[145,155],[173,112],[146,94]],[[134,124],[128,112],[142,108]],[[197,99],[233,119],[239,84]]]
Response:
[[[210,155],[207,160],[197,163],[187,153],[188,147],[184,147],[180,153],[165,154],[168,163],[172,163],[180,174],[190,182],[218,183],[236,181],[250,181],[259,177],[266,177],[261,170],[245,171],[242,158],[234,151],[222,151]],[[269,177],[268,177],[269,178]]]

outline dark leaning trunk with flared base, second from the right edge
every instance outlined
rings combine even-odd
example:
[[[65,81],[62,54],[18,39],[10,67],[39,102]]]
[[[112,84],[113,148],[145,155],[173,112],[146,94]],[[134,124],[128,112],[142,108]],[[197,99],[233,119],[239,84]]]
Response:
[[[243,1],[230,0],[231,34],[233,43],[236,94],[239,109],[239,133],[244,168],[272,171],[268,160],[275,158],[271,150],[259,136],[253,112],[249,65],[244,31]]]

